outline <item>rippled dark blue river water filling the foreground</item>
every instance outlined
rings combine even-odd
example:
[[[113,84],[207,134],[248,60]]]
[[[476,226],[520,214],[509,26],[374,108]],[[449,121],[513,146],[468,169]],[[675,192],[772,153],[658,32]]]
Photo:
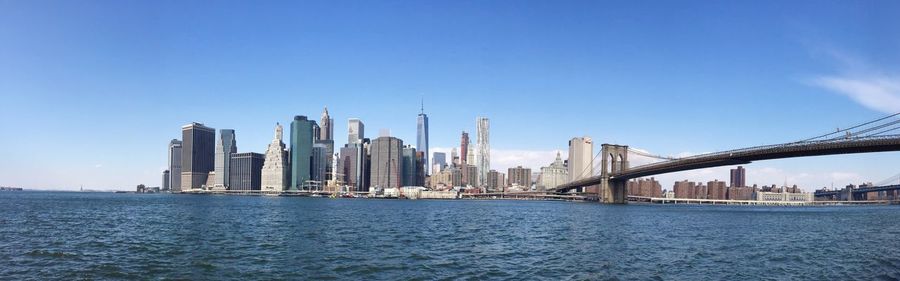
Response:
[[[900,206],[0,192],[0,279],[897,280]]]

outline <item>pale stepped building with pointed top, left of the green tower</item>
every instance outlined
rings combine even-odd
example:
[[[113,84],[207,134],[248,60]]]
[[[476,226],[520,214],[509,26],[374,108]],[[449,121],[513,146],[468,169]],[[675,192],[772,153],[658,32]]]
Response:
[[[282,141],[283,128],[275,124],[275,137],[266,149],[266,159],[261,172],[261,190],[281,192],[288,187],[291,180],[288,170],[288,154]]]

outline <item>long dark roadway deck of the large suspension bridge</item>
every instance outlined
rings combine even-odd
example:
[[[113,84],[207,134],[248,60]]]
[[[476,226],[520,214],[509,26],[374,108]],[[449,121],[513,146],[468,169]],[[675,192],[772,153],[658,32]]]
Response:
[[[651,175],[742,165],[759,160],[885,151],[900,151],[900,135],[794,142],[702,154],[626,168],[611,173],[608,180],[624,182]],[[604,180],[606,179],[602,175],[597,175],[561,185],[556,191],[567,192],[579,187],[597,185]]]

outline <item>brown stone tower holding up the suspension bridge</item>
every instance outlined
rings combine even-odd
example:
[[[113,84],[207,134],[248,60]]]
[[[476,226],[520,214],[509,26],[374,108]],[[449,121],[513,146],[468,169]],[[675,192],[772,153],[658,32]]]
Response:
[[[627,181],[617,180],[613,176],[628,170],[628,146],[602,144],[600,154],[600,178],[598,188],[600,202],[604,204],[625,204]]]

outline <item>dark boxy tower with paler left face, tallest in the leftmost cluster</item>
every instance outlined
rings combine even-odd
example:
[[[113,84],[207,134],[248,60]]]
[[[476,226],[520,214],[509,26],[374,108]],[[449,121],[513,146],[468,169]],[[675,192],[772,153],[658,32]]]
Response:
[[[200,123],[181,127],[181,190],[203,188],[215,168],[216,129]]]

